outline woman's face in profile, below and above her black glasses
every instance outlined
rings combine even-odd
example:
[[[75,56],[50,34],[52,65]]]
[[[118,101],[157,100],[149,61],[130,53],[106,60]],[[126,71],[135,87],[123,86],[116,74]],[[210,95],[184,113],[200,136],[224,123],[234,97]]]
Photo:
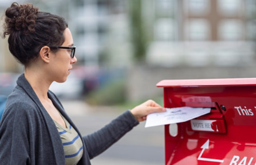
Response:
[[[61,46],[71,47],[73,46],[73,38],[68,28],[64,31],[65,41]],[[52,80],[57,82],[65,82],[67,76],[70,74],[72,64],[76,63],[76,56],[71,58],[70,49],[58,49],[52,56]]]

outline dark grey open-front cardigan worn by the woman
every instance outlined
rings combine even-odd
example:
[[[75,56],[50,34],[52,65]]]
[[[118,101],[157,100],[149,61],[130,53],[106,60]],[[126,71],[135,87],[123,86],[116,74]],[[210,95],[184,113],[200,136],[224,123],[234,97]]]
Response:
[[[82,138],[84,152],[78,165],[90,165],[99,155],[139,122],[125,111],[108,125],[81,136],[57,97],[48,97]],[[0,122],[0,165],[65,165],[65,156],[55,123],[22,74],[8,97]]]

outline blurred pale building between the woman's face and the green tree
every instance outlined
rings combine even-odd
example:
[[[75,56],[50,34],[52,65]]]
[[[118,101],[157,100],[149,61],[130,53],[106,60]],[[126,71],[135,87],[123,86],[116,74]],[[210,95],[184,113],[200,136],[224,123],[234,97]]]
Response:
[[[124,0],[74,0],[69,26],[80,64],[127,65],[131,56],[129,17]],[[128,59],[128,60],[127,60]],[[127,63],[128,61],[128,63]]]

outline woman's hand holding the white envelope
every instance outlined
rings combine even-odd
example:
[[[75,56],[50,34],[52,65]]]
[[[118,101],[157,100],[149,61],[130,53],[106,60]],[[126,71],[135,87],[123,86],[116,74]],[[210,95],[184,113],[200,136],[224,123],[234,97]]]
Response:
[[[138,120],[138,122],[145,121],[147,119],[147,115],[155,112],[165,112],[166,109],[161,107],[159,104],[154,102],[153,100],[148,100],[131,110],[133,116]]]

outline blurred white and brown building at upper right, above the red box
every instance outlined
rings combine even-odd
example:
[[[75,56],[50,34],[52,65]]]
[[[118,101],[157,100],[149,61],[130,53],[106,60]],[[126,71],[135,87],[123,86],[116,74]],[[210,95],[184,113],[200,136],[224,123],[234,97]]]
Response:
[[[146,55],[148,63],[168,67],[255,63],[255,0],[144,3],[143,14],[152,12],[150,24],[154,34]]]

